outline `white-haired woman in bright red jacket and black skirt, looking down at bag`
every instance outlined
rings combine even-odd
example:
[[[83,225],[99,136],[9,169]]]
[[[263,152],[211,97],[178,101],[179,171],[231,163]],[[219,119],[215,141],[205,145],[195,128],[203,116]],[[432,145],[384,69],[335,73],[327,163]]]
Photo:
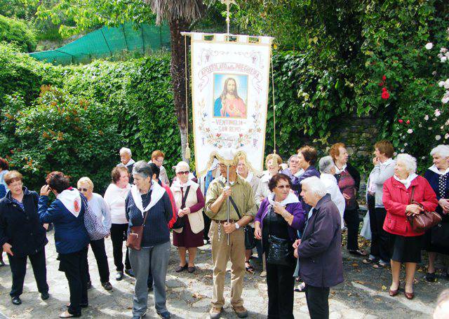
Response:
[[[416,264],[421,262],[422,233],[413,231],[407,217],[422,212],[420,205],[410,204],[413,189],[413,201],[433,211],[438,205],[436,195],[424,177],[416,175],[416,159],[408,154],[396,157],[394,176],[384,183],[382,201],[387,210],[384,231],[391,234],[391,287],[390,296],[396,296],[399,290],[401,263],[406,264],[406,286],[404,294],[413,299],[413,277]]]

